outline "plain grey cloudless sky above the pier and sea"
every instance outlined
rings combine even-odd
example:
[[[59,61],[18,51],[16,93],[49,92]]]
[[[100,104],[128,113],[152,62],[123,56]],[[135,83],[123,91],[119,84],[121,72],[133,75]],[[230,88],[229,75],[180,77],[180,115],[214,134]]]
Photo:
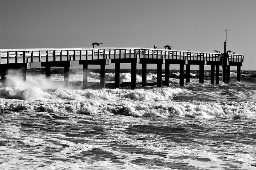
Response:
[[[256,70],[256,0],[0,0],[0,25],[0,49],[102,42],[221,53],[228,29],[227,50],[244,55],[242,70]]]

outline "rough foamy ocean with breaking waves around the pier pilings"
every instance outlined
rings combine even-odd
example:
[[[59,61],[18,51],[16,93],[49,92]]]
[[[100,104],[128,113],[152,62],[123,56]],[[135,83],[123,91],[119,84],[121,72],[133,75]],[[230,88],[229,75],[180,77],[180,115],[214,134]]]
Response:
[[[221,72],[220,72],[221,74]],[[198,70],[179,86],[179,70],[170,70],[170,87],[156,86],[156,70],[147,85],[130,90],[129,69],[89,69],[82,90],[82,69],[42,68],[10,71],[0,83],[0,169],[6,170],[256,170],[256,71],[242,71],[236,82],[210,84]],[[164,81],[164,70],[162,75]],[[221,76],[220,76],[221,78]],[[221,80],[220,80],[221,82]]]

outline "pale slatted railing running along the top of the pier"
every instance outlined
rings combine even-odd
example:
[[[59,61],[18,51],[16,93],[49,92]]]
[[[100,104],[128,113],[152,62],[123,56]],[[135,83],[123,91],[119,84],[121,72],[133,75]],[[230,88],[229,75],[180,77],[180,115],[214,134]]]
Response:
[[[131,58],[221,61],[221,57],[221,53],[151,48],[0,49],[0,64]],[[244,55],[228,54],[228,61],[243,62]]]

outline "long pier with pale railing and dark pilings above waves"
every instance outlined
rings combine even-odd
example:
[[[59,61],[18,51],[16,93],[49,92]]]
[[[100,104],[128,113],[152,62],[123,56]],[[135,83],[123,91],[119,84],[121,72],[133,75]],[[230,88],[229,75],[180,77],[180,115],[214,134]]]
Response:
[[[100,85],[105,86],[105,66],[115,63],[115,88],[120,86],[120,63],[131,63],[131,88],[136,88],[137,63],[142,64],[142,86],[146,86],[147,64],[157,64],[157,86],[162,86],[162,64],[165,65],[165,86],[169,86],[170,64],[180,65],[180,86],[190,82],[190,66],[199,65],[199,82],[204,83],[204,66],[211,66],[211,84],[219,84],[222,66],[223,82],[230,82],[230,66],[237,66],[237,81],[241,80],[244,55],[230,53],[207,53],[199,51],[175,51],[151,48],[52,48],[52,49],[0,49],[1,79],[6,79],[9,69],[21,69],[26,80],[26,70],[31,63],[45,67],[46,78],[50,79],[51,67],[64,67],[64,81],[69,84],[69,69],[73,61],[83,65],[83,87],[87,88],[88,65],[100,65]],[[184,77],[184,66],[186,75]]]

